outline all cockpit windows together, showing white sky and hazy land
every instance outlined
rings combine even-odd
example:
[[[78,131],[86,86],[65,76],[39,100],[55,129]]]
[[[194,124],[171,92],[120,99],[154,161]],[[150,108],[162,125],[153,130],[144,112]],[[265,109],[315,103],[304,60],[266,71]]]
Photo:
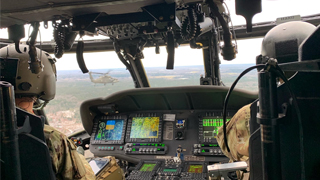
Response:
[[[233,25],[244,25],[245,19],[235,14],[235,1],[225,0],[225,3],[230,10]],[[254,16],[253,23],[275,21],[276,18],[292,15],[317,14],[318,5],[320,5],[318,0],[263,0],[262,13]],[[26,35],[30,34],[29,26],[25,27],[25,31]],[[44,29],[41,23],[38,42],[52,41],[52,31],[51,26]],[[6,29],[0,30],[0,38],[8,38]],[[106,39],[106,37],[85,36],[83,39]],[[22,39],[26,40],[27,38]],[[79,40],[79,37],[76,40]],[[255,57],[260,54],[261,42],[262,38],[238,40],[236,59],[225,61],[220,56],[220,73],[225,86],[229,87],[244,69],[255,64]],[[160,48],[160,54],[155,54],[154,48],[144,49],[145,58],[142,62],[151,87],[200,85],[200,77],[205,73],[202,50],[179,46],[175,51],[174,70],[166,70],[165,47]],[[83,101],[134,88],[130,73],[115,52],[85,53],[84,59],[92,72],[91,76],[79,70],[75,53],[64,54],[56,63],[58,74],[56,96],[45,107],[45,111],[50,125],[65,134],[83,129],[79,112]],[[255,92],[257,82],[257,73],[252,71],[238,83],[237,88]]]

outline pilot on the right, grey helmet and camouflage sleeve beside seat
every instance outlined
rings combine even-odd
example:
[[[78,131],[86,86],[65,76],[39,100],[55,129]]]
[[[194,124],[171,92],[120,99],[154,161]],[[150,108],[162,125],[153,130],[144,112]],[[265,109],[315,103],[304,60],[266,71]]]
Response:
[[[261,55],[275,58],[279,64],[297,61],[299,45],[315,29],[314,25],[300,21],[277,25],[264,37]],[[285,75],[289,78],[293,74],[285,72]],[[279,83],[282,83],[281,79],[279,79]],[[218,131],[217,140],[221,150],[232,162],[248,161],[249,158],[250,106],[251,104],[242,107],[226,124],[230,153],[228,153],[224,143],[223,127]]]

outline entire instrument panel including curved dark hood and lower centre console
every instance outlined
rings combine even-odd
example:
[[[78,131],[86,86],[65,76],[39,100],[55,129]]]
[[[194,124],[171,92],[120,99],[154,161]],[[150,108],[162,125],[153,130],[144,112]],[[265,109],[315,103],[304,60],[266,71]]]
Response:
[[[226,87],[137,88],[87,100],[80,107],[96,157],[138,164],[126,179],[208,179],[207,166],[225,163],[216,140]],[[257,94],[234,90],[227,120]]]

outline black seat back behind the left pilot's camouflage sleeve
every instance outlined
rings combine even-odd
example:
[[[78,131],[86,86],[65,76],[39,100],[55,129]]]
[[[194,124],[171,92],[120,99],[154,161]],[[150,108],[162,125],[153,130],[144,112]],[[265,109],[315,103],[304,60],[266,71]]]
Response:
[[[54,180],[51,157],[43,133],[43,120],[17,108],[18,141],[23,180]],[[29,125],[27,124],[29,123]]]

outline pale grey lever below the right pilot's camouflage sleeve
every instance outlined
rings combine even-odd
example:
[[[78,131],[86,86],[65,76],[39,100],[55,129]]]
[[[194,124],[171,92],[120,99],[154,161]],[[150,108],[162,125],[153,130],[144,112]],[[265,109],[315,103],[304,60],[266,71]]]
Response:
[[[237,170],[246,170],[247,167],[248,164],[244,161],[207,166],[210,177],[223,177],[224,179],[230,179],[230,173]]]

